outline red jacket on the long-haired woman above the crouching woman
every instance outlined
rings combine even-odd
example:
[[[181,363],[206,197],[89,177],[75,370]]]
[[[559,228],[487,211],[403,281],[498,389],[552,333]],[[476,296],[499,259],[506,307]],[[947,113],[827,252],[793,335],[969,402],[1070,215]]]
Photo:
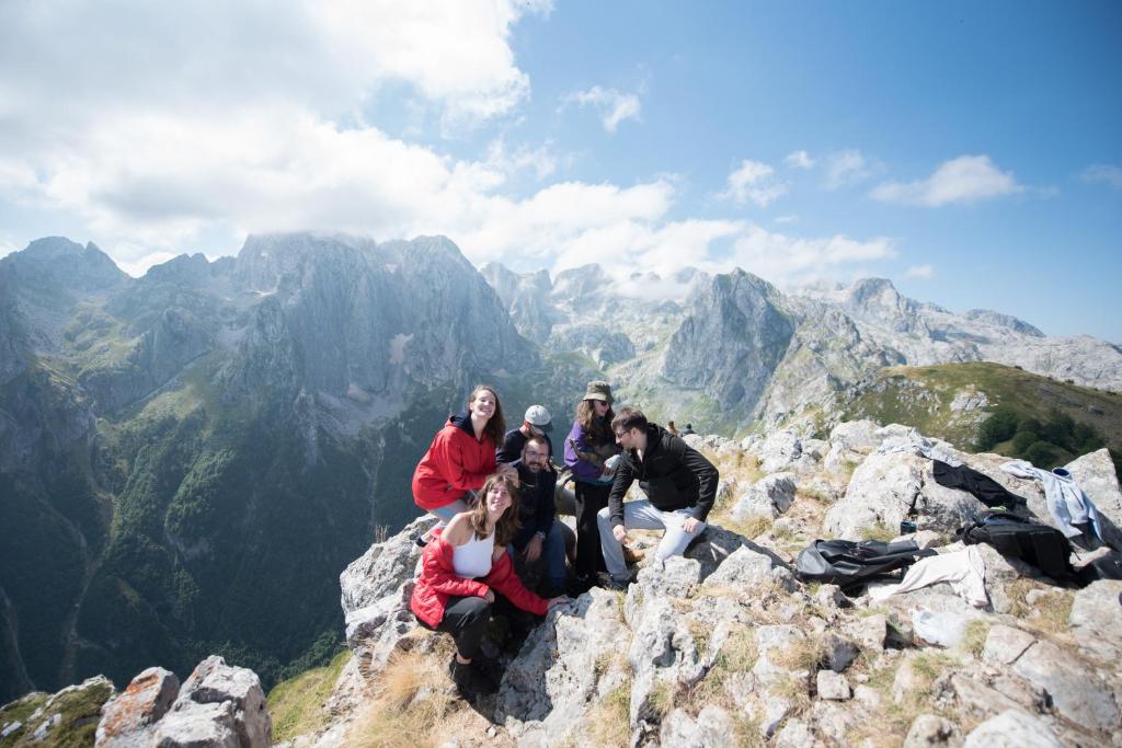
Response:
[[[426,511],[439,509],[481,489],[493,472],[495,442],[486,434],[477,440],[467,414],[452,416],[413,472],[413,501]]]

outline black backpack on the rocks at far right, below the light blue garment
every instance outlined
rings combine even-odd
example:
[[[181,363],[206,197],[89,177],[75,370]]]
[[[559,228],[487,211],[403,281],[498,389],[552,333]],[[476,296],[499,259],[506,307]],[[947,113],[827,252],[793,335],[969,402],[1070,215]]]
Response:
[[[1001,555],[1032,564],[1057,582],[1074,579],[1072,543],[1049,525],[1008,511],[983,511],[957,534],[967,545],[992,545]]]

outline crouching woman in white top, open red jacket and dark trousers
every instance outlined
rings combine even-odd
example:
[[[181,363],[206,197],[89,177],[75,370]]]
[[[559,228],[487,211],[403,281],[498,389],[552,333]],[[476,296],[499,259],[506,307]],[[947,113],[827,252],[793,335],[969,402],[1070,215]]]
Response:
[[[456,638],[456,656],[448,667],[463,695],[493,693],[497,687],[472,663],[496,592],[535,616],[544,616],[567,599],[544,600],[523,587],[514,573],[506,546],[518,529],[515,496],[513,480],[505,474],[491,475],[475,508],[456,515],[443,530],[434,530],[410,600],[422,626]]]

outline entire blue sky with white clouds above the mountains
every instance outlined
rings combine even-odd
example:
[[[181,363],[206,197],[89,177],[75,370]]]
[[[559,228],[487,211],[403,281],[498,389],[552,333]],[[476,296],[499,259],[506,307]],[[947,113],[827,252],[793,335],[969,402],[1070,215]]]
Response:
[[[1120,36],[1118,2],[4,3],[0,252],[443,233],[1122,342]]]

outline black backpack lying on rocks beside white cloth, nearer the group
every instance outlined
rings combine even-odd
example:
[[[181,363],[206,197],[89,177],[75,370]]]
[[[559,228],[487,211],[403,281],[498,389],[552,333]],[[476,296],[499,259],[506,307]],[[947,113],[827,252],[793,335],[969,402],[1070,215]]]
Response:
[[[914,541],[815,541],[799,552],[794,571],[803,582],[837,584],[843,591],[865,582],[892,578],[892,572],[910,566],[935,551],[921,551]]]

